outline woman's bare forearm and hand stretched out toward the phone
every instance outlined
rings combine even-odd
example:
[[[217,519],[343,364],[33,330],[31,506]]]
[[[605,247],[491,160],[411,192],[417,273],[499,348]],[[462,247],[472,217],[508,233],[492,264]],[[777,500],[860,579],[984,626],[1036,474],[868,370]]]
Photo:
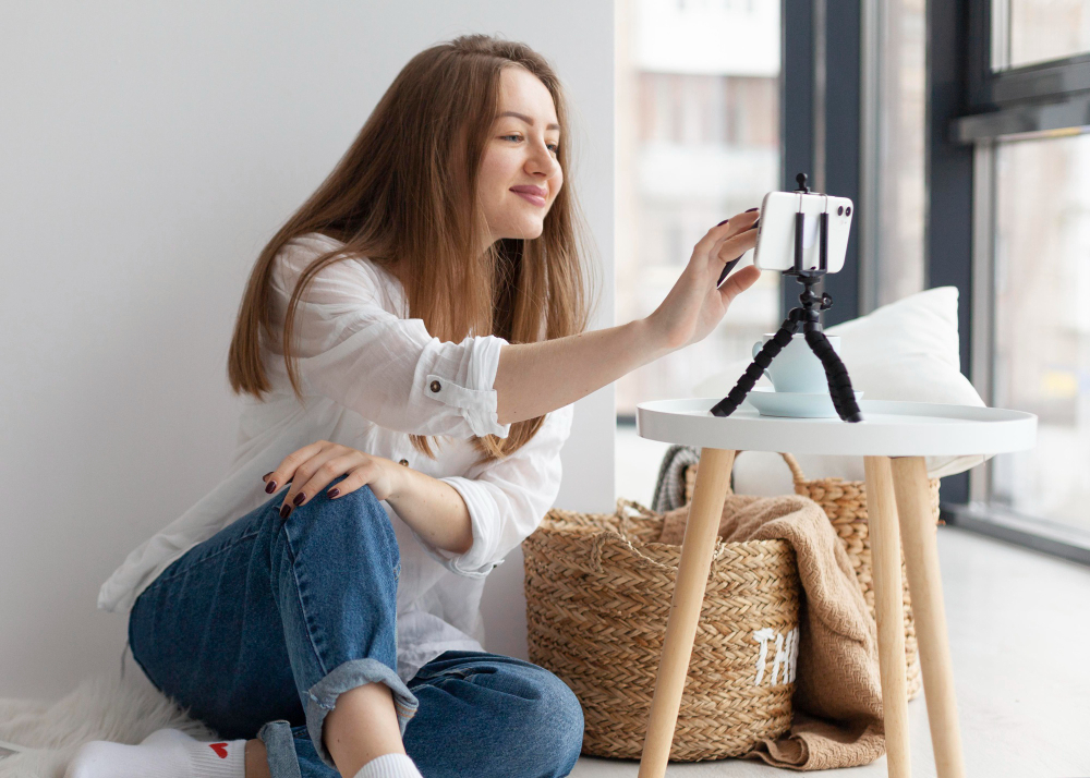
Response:
[[[568,405],[671,351],[703,340],[730,301],[761,272],[744,267],[716,289],[723,266],[753,247],[755,212],[713,227],[693,248],[689,265],[651,316],[618,327],[540,343],[508,343],[496,369],[500,424],[535,418]]]

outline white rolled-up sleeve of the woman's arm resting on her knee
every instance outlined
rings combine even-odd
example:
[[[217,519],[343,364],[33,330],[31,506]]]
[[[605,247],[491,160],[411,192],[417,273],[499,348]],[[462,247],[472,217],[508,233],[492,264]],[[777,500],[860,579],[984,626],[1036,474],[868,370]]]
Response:
[[[572,415],[572,405],[557,409],[514,453],[476,465],[467,476],[439,478],[465,501],[473,545],[464,554],[455,554],[417,535],[425,551],[451,572],[467,578],[484,578],[502,562],[537,528],[556,500],[560,490],[560,449],[571,434]]]

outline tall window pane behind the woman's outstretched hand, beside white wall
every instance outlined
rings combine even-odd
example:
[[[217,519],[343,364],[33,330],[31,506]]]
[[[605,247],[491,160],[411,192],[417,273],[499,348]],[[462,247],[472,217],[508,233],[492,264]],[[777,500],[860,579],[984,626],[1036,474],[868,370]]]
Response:
[[[715,223],[779,182],[778,2],[617,0],[618,323],[651,314]],[[742,263],[751,262],[752,254]],[[774,332],[779,273],[763,273],[695,343],[617,381],[617,413],[691,397]]]

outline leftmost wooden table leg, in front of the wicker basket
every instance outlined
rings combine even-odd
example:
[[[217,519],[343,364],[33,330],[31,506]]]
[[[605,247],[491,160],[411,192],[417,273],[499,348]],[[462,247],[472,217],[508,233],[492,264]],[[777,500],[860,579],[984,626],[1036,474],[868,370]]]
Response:
[[[692,503],[686,521],[685,539],[681,542],[681,558],[674,583],[670,616],[666,622],[663,656],[655,680],[655,694],[651,698],[651,715],[643,741],[639,778],[663,778],[666,775],[734,462],[734,451],[701,449]]]

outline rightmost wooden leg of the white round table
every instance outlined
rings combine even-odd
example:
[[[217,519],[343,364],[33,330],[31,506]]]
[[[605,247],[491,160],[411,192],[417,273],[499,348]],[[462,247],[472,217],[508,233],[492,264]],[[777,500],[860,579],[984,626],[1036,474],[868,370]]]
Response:
[[[954,695],[954,670],[943,584],[938,574],[938,545],[935,519],[931,512],[928,469],[922,457],[903,457],[892,461],[897,513],[905,543],[908,591],[920,645],[923,692],[928,698],[928,722],[935,751],[938,778],[964,778],[961,732],[957,722]],[[699,472],[699,471],[698,471]]]

